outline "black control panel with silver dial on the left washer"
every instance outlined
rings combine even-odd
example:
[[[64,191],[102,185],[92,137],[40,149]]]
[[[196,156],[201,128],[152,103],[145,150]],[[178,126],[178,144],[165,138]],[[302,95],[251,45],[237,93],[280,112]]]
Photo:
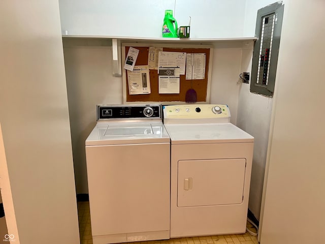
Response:
[[[148,118],[161,119],[160,104],[97,105],[97,120]]]

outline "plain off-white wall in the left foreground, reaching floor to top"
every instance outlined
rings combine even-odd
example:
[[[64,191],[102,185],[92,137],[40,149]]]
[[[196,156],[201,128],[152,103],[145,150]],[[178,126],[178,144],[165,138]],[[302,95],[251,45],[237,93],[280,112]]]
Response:
[[[80,243],[58,1],[1,1],[0,29],[0,123],[19,240]]]

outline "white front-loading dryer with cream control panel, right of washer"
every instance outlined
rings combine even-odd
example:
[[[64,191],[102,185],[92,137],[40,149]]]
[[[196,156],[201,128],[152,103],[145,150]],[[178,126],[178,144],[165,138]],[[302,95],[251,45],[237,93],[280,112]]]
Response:
[[[254,138],[226,105],[164,106],[171,138],[171,237],[244,233]]]

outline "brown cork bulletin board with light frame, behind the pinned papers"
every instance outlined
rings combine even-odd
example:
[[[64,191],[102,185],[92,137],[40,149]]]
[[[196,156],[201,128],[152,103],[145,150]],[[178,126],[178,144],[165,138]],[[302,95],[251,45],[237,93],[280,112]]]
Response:
[[[150,70],[150,94],[130,95],[128,90],[127,72],[122,69],[123,77],[123,102],[124,103],[142,103],[142,102],[159,102],[159,103],[171,103],[180,102],[185,103],[185,94],[188,89],[193,88],[197,93],[198,103],[207,103],[210,98],[210,78],[212,67],[212,54],[213,48],[209,45],[171,45],[171,44],[130,44],[122,43],[122,67],[125,62],[125,58],[129,47],[134,47],[139,50],[138,58],[136,60],[136,66],[148,65],[149,47],[163,47],[163,51],[168,52],[186,52],[186,53],[205,53],[206,54],[206,66],[204,79],[186,80],[186,75],[180,75],[180,89],[179,94],[159,94],[158,93],[158,71]]]

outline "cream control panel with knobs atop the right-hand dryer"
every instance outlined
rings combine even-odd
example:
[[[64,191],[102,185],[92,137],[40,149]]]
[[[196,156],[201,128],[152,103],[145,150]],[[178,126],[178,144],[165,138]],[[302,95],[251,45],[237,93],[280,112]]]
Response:
[[[224,104],[185,104],[163,106],[164,123],[228,123],[230,110]]]

